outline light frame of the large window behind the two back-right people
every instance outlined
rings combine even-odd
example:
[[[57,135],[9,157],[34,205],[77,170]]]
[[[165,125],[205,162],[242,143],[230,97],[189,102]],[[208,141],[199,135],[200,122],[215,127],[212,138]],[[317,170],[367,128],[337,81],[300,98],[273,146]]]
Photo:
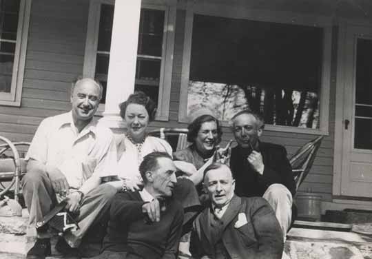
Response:
[[[223,10],[223,11],[221,11]],[[320,87],[320,127],[310,129],[304,127],[291,127],[284,125],[265,125],[265,130],[276,132],[293,132],[302,134],[329,134],[329,92],[331,85],[331,39],[332,21],[330,17],[320,17],[293,12],[251,10],[242,6],[229,6],[225,4],[200,4],[187,1],[185,18],[185,39],[183,43],[183,63],[180,85],[180,103],[178,121],[187,123],[187,96],[189,85],[189,71],[192,47],[192,29],[194,14],[211,15],[231,19],[249,19],[252,21],[265,21],[273,23],[285,23],[296,25],[317,26],[323,29],[323,55],[322,55],[322,79]],[[224,126],[229,126],[223,121]]]

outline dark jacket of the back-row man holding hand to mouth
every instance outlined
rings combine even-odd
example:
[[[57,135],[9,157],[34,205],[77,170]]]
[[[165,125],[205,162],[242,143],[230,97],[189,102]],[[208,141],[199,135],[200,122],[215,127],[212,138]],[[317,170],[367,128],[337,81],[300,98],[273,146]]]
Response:
[[[238,196],[262,196],[267,187],[273,183],[285,185],[292,196],[296,194],[292,167],[287,158],[287,151],[281,145],[260,142],[259,152],[265,165],[262,176],[254,171],[247,161],[248,154],[239,146],[231,150],[230,167],[236,180],[235,193]]]

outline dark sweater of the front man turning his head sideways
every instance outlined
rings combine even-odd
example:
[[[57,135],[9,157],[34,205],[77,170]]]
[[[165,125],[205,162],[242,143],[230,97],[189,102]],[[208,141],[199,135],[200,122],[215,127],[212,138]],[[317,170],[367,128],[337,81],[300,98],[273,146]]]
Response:
[[[138,191],[114,196],[103,249],[128,251],[142,258],[176,258],[182,231],[183,208],[169,200],[159,222],[150,222],[143,214]]]

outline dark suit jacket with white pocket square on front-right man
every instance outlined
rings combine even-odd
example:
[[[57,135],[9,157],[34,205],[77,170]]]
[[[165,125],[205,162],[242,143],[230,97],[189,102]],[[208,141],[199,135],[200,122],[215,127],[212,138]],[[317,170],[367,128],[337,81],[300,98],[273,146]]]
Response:
[[[245,214],[247,223],[236,226],[240,213]],[[210,207],[194,221],[190,251],[195,258],[216,258],[209,214]],[[264,198],[234,196],[221,220],[224,227],[222,242],[231,258],[282,258],[282,230]]]

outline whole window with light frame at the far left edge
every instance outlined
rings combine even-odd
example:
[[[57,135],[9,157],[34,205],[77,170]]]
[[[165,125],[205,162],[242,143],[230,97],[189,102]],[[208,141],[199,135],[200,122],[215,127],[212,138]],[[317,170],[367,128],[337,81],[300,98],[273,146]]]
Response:
[[[0,0],[0,104],[20,105],[31,1]]]

